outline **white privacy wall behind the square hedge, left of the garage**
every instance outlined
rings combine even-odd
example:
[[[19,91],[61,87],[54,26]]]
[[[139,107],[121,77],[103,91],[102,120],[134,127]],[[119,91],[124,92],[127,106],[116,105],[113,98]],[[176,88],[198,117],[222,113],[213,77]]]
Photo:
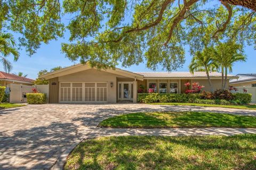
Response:
[[[32,89],[36,88],[38,92],[42,92],[49,96],[49,86],[48,85],[36,85],[27,86],[22,84],[8,84],[7,88],[10,89],[10,103],[26,103],[26,94],[33,92]]]

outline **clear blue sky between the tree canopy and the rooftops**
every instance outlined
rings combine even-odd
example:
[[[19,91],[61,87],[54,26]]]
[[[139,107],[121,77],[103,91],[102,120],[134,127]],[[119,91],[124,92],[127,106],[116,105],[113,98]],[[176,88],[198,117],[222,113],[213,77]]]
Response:
[[[63,20],[70,18],[70,16],[65,16]],[[18,39],[18,34],[14,33],[14,38]],[[57,41],[52,40],[49,44],[42,44],[41,47],[37,50],[36,54],[29,57],[25,49],[19,50],[20,58],[17,62],[13,62],[13,57],[10,56],[9,60],[12,62],[13,70],[11,73],[23,72],[28,74],[28,78],[36,79],[37,73],[40,70],[50,70],[56,66],[70,66],[75,63],[71,62],[68,58],[65,57],[65,54],[61,53],[61,43],[68,43],[69,32],[65,32],[64,38],[59,38]],[[189,71],[188,65],[191,61],[190,54],[188,53],[188,47],[186,49],[186,62],[182,67],[175,71]],[[233,72],[231,74],[238,73],[256,73],[256,51],[253,49],[253,46],[246,46],[244,48],[245,55],[247,56],[247,61],[245,63],[236,63],[233,67]],[[77,61],[76,63],[79,63]],[[134,72],[145,72],[145,71],[154,71],[147,69],[145,63],[139,65],[132,65],[130,67],[124,68],[121,65],[117,66],[119,69],[124,69]],[[0,70],[3,71],[3,65],[0,64]],[[166,71],[162,67],[158,67],[155,71]]]

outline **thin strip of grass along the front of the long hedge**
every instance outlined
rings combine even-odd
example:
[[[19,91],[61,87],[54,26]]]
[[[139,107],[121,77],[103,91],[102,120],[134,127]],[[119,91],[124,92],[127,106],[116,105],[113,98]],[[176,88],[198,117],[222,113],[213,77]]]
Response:
[[[210,105],[210,104],[198,104],[198,103],[150,103],[149,105],[204,106],[204,107],[225,107],[225,108],[256,110],[256,105]]]

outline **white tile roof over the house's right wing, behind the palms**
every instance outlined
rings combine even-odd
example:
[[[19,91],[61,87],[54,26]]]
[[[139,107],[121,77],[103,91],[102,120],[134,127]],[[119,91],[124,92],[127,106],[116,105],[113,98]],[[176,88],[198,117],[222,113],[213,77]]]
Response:
[[[206,72],[135,72],[141,74],[144,78],[206,78]],[[210,72],[211,78],[221,78],[221,73]],[[228,74],[228,78],[237,79],[234,75]]]

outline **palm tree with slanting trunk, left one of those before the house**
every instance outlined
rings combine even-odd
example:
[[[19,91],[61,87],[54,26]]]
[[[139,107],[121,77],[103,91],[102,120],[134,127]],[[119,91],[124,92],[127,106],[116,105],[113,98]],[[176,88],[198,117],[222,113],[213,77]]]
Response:
[[[189,71],[194,73],[195,71],[204,70],[206,72],[211,91],[213,92],[213,86],[209,72],[215,71],[217,67],[218,65],[212,57],[212,48],[205,48],[203,52],[196,52],[189,65]]]

